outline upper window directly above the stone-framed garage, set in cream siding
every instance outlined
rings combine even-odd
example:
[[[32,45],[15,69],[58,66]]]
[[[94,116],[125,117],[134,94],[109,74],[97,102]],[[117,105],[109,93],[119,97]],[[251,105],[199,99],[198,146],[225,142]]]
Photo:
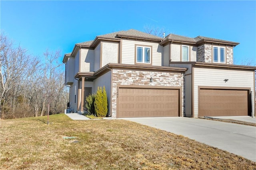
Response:
[[[151,63],[151,47],[136,46],[136,63]]]

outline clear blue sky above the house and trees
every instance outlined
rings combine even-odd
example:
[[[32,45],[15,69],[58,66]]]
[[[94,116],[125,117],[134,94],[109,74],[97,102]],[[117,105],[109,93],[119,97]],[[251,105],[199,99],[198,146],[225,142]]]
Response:
[[[237,64],[256,63],[256,1],[0,1],[0,28],[32,55],[61,50],[97,35],[165,28],[166,35],[198,35],[239,42]],[[256,64],[255,64],[256,65]]]

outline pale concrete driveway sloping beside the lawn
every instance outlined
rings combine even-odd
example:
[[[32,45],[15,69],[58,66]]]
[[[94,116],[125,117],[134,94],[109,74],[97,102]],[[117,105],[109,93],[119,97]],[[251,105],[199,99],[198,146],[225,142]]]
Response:
[[[122,118],[183,135],[256,162],[256,127],[188,117]]]

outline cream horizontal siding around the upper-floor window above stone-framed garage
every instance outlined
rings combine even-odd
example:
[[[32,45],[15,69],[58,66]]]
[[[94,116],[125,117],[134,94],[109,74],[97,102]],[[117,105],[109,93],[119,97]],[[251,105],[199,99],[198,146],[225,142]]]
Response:
[[[122,40],[122,64],[135,64],[135,45],[152,46],[152,65],[162,66],[163,47],[159,43],[146,41]]]

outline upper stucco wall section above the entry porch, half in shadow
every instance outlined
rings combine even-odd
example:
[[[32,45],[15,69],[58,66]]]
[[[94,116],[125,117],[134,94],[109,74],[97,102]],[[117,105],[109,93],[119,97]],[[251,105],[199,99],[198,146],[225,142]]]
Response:
[[[94,71],[94,51],[91,49],[81,49],[80,72]]]

